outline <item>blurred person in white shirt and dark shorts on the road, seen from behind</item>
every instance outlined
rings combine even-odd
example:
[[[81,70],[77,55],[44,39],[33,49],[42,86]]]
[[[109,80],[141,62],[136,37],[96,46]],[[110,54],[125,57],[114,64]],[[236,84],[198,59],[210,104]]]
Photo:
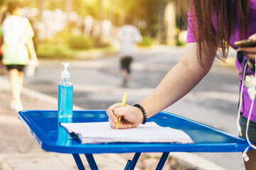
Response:
[[[136,53],[136,43],[142,41],[142,35],[139,33],[138,28],[132,26],[131,16],[125,18],[125,25],[119,28],[117,38],[121,42],[119,58],[123,86],[127,86],[127,82],[131,79],[130,64]]]

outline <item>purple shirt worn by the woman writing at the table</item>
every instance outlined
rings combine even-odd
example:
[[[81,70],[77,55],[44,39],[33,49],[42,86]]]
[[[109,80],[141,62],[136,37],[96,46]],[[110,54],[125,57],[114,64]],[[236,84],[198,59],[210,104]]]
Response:
[[[214,16],[213,16],[214,17]],[[196,23],[196,16],[194,15],[193,11],[189,10],[188,11],[188,34],[187,34],[187,39],[186,42],[196,42],[196,31],[197,26],[196,24],[195,27],[193,27],[193,23]],[[216,28],[216,24],[213,22],[213,27]],[[249,18],[248,18],[248,35],[252,35],[256,33],[256,0],[250,0],[249,2]],[[248,36],[248,37],[249,37]],[[233,36],[233,33],[231,33],[231,38],[230,38],[230,46],[233,48],[237,48],[234,46],[234,42],[240,40],[239,38],[239,21],[238,18],[235,18],[235,36]],[[247,37],[247,38],[248,38]],[[244,57],[244,62],[246,60],[246,57]],[[241,70],[240,70],[240,64],[238,63],[238,60],[235,62],[236,67],[238,68],[239,75],[238,78],[240,80],[240,86],[241,86]],[[248,70],[247,70],[248,72]],[[246,118],[249,115],[250,111],[250,106],[251,106],[251,100],[247,94],[247,88],[244,88],[243,90],[243,101],[242,102],[242,108],[241,112],[243,113]],[[256,100],[254,103],[254,108],[252,110],[252,115],[250,118],[252,121],[256,122]]]

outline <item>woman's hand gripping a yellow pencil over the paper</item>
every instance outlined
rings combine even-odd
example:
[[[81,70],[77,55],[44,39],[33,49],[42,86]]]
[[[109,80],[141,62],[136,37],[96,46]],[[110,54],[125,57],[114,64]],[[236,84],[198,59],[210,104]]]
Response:
[[[107,115],[109,116],[110,127],[114,129],[117,127],[119,116],[122,116],[119,129],[137,128],[143,121],[143,114],[139,108],[129,105],[121,108],[121,103],[115,103],[107,108]]]

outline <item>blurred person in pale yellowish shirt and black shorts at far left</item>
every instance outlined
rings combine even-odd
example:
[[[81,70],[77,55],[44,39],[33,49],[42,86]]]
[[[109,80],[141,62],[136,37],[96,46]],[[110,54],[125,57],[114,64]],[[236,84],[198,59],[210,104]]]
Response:
[[[9,16],[1,26],[4,36],[3,63],[9,70],[11,83],[11,108],[23,110],[21,104],[21,88],[23,86],[23,69],[28,64],[29,57],[38,65],[36,51],[33,45],[33,29],[28,18],[20,16],[21,3],[9,1],[7,4]]]

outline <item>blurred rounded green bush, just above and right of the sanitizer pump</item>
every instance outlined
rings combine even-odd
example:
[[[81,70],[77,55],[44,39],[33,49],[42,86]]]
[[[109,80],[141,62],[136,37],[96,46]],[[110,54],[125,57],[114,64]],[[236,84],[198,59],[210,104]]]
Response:
[[[68,46],[72,49],[78,49],[78,50],[87,50],[92,48],[93,42],[92,38],[85,35],[76,35],[71,36],[68,40]]]

